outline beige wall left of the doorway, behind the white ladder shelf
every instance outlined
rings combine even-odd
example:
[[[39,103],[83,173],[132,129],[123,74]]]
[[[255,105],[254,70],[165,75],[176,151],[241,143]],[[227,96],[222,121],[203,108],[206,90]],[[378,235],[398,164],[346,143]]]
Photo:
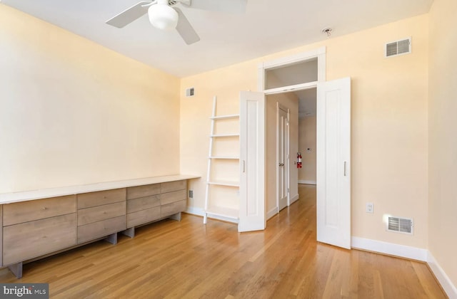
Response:
[[[195,95],[186,97],[186,88],[190,87],[195,88]],[[191,211],[203,213],[204,209],[214,96],[218,103],[216,115],[238,114],[240,91],[255,89],[256,63],[252,62],[181,79],[181,173],[201,175],[201,179],[189,182],[189,189],[194,190],[194,198],[188,201]],[[233,196],[232,200],[238,201]]]

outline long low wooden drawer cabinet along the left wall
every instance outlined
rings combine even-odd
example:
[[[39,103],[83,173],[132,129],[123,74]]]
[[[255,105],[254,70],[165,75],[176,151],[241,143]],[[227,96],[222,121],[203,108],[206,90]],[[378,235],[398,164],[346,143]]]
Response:
[[[104,191],[89,192],[100,189],[84,187],[81,193],[57,189],[50,195],[52,192],[46,190],[45,199],[28,200],[24,196],[23,201],[2,201],[0,266],[8,266],[21,278],[23,261],[104,237],[116,243],[118,232],[133,237],[135,226],[166,217],[181,219],[181,211],[186,209],[187,179],[176,177],[180,178],[172,182],[163,182],[161,177],[148,179],[146,184],[141,180],[133,187],[129,181],[124,184],[127,187],[116,185]],[[56,196],[70,192],[74,194]]]

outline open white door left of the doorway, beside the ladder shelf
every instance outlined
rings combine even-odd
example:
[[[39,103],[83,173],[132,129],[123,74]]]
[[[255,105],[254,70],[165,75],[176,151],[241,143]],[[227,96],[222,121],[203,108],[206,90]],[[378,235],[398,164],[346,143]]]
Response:
[[[242,91],[238,231],[265,229],[265,210],[265,95]]]

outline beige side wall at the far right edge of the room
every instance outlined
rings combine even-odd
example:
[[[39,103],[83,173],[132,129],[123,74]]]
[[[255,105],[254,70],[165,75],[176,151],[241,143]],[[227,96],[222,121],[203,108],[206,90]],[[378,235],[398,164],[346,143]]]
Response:
[[[430,11],[428,249],[457,285],[457,2]]]

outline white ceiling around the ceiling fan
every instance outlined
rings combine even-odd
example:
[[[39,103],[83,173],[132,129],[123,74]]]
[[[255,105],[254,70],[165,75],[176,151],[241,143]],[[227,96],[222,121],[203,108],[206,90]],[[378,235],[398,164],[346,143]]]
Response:
[[[248,0],[246,14],[182,8],[201,41],[187,46],[143,16],[124,28],[104,21],[138,0],[0,0],[107,48],[184,77],[428,12],[433,0]],[[217,0],[213,0],[217,1]],[[178,4],[181,6],[181,4]]]

